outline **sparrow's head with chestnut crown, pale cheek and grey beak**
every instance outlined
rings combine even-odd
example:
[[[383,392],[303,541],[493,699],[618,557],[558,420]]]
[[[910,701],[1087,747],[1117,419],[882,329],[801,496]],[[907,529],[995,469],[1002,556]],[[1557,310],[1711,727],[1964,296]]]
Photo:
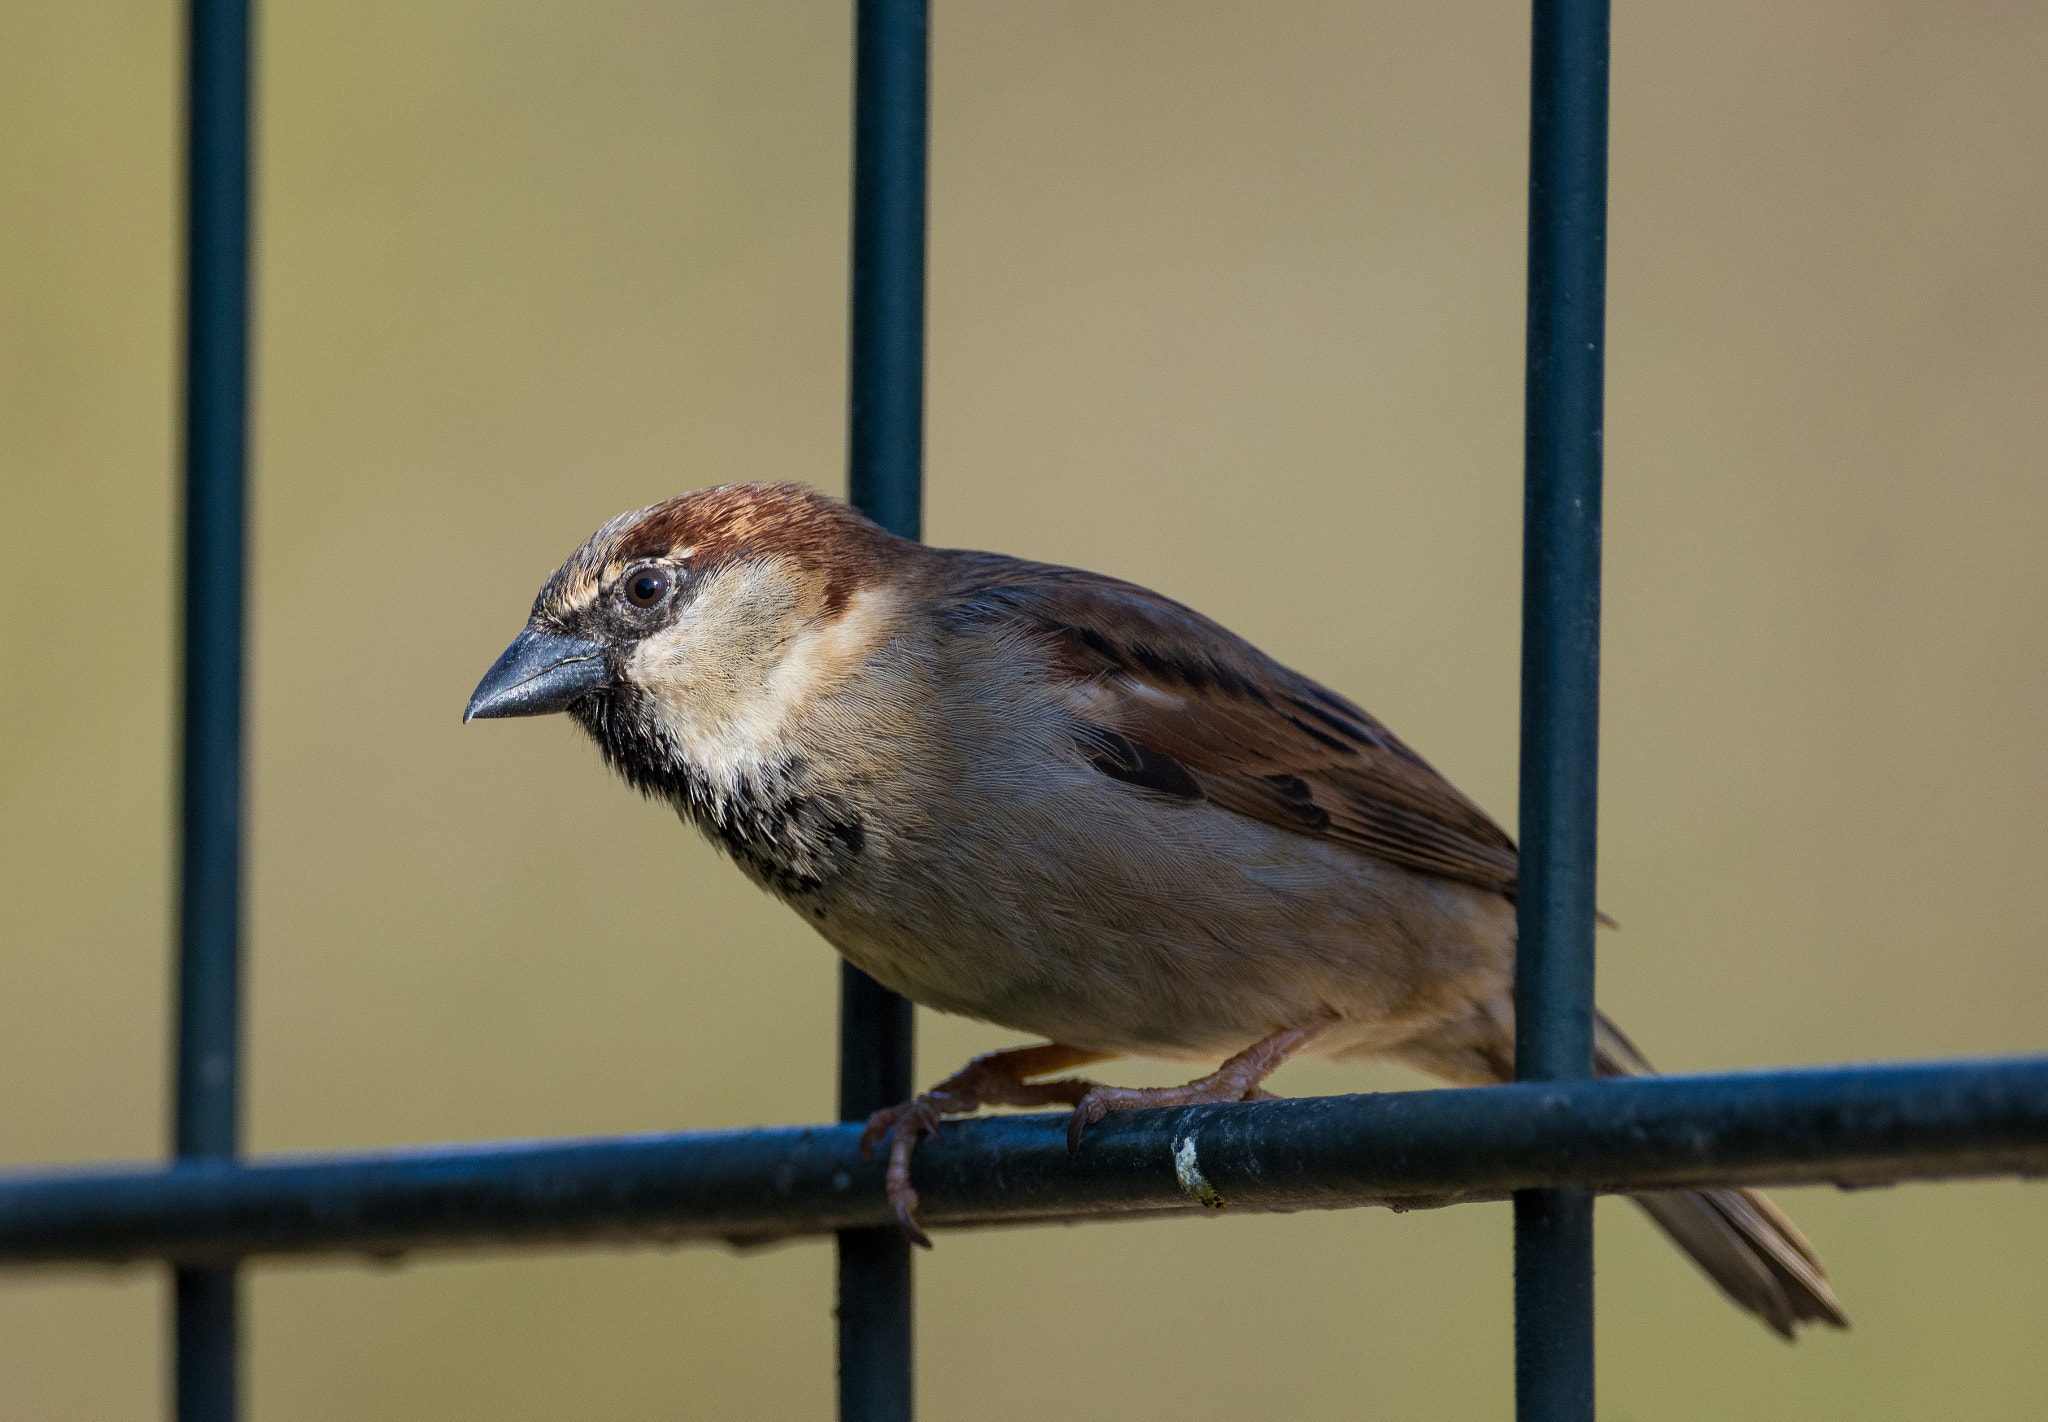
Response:
[[[541,588],[463,721],[567,711],[645,791],[760,756],[858,670],[918,545],[797,484],[612,518]]]

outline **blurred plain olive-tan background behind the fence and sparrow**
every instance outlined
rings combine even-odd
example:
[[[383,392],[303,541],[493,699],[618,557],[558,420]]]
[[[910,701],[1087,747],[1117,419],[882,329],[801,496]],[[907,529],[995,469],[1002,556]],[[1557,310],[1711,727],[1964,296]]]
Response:
[[[0,1160],[166,1139],[178,10],[0,14]],[[602,518],[844,488],[844,2],[262,6],[248,1145],[770,1121],[834,965],[563,721]],[[940,0],[934,541],[1153,584],[1513,822],[1520,4]],[[2048,1043],[2048,8],[1620,6],[1602,998],[1671,1070]],[[1008,1041],[924,1016],[924,1078]],[[1120,1080],[1169,1080],[1130,1068]],[[1290,1068],[1282,1090],[1411,1086]],[[1804,1190],[1786,1348],[1602,1209],[1610,1418],[2048,1410],[2042,1186]],[[1505,1207],[946,1238],[924,1416],[1507,1416]],[[252,1416],[823,1418],[831,1254],[252,1270]],[[160,1412],[152,1270],[0,1416]]]

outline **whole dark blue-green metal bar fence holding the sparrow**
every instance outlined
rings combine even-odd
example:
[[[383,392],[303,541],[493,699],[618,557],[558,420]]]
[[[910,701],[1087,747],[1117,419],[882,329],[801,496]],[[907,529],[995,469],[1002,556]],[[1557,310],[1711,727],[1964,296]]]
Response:
[[[1516,1086],[961,1123],[928,1227],[1513,1197],[1518,1416],[1593,1416],[1604,1190],[2048,1174],[2048,1057],[1591,1082],[1606,0],[1536,0],[1530,113]],[[858,0],[852,500],[920,533],[928,0]],[[176,1160],[0,1180],[0,1264],[164,1260],[176,1416],[236,1416],[252,1256],[838,1233],[840,1416],[911,1416],[911,1262],[868,1111],[911,1094],[909,1002],[844,967],[840,1125],[238,1160],[248,0],[190,0]]]

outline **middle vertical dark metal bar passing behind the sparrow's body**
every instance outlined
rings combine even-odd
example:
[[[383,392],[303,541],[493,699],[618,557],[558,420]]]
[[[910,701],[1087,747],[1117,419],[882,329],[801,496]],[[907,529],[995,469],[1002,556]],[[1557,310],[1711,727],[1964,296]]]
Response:
[[[928,0],[860,0],[854,41],[854,240],[848,494],[905,539],[924,502]],[[840,1119],[905,1100],[911,1004],[842,965]],[[911,1260],[897,1229],[840,1231],[840,1418],[909,1422]]]

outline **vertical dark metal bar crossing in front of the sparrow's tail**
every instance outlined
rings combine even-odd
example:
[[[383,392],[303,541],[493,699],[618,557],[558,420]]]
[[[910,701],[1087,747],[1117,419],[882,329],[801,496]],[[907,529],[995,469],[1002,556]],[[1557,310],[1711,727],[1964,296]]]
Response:
[[[1516,1076],[1593,1070],[1608,0],[1536,0]],[[1516,1195],[1516,1416],[1593,1420],[1593,1199]]]

